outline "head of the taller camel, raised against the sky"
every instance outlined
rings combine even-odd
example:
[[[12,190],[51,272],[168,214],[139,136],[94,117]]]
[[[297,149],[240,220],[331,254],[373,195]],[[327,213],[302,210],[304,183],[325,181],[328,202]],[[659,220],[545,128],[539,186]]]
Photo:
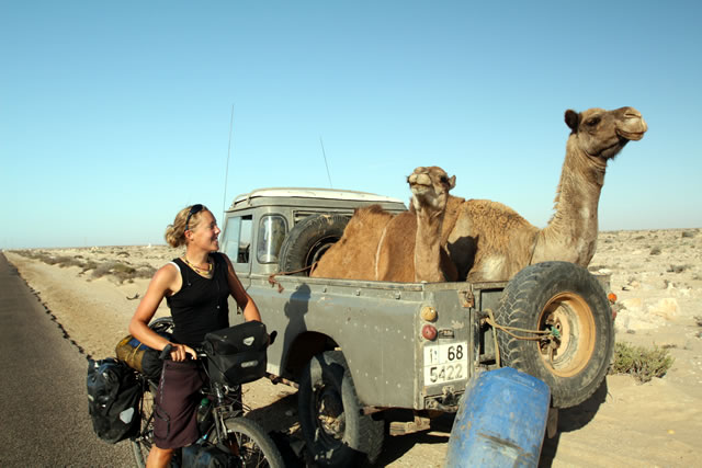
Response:
[[[641,112],[634,107],[614,111],[593,107],[580,113],[568,110],[565,119],[577,147],[604,162],[614,158],[629,141],[642,139],[648,129]]]

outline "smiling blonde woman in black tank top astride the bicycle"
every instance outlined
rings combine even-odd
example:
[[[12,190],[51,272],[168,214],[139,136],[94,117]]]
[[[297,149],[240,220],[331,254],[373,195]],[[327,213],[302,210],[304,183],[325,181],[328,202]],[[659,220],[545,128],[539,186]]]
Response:
[[[172,247],[184,244],[185,254],[156,272],[129,322],[129,333],[147,346],[163,350],[172,345],[171,361],[163,364],[155,397],[155,446],[147,467],[168,466],[174,448],[192,444],[200,436],[194,396],[205,376],[193,361],[197,358],[193,347],[206,333],[229,326],[228,296],[235,298],[245,320],[261,321],[231,262],[217,252],[219,232],[215,217],[204,205],[181,209],[166,230],[166,241]],[[163,297],[173,317],[171,341],[148,327]]]

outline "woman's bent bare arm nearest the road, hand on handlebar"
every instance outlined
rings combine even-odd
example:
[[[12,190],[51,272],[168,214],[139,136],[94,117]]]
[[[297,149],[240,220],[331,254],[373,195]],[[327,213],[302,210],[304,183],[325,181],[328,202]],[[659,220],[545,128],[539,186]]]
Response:
[[[173,361],[184,361],[188,354],[193,358],[197,358],[197,354],[184,344],[169,342],[166,338],[151,330],[149,322],[151,318],[154,318],[156,309],[158,309],[166,294],[177,289],[176,286],[179,279],[180,275],[176,266],[161,266],[151,278],[149,287],[129,322],[129,333],[150,349],[160,351],[170,343],[173,346],[171,351],[171,358]]]

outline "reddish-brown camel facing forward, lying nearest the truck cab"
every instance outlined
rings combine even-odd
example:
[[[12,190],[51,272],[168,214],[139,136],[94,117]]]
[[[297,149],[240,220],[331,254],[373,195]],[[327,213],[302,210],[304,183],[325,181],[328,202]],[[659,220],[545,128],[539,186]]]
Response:
[[[341,239],[322,255],[310,276],[404,283],[455,276],[442,248],[448,241],[449,232],[442,233],[443,218],[455,175],[449,178],[438,167],[420,167],[407,182],[412,192],[409,212],[392,215],[377,205],[356,209]],[[463,199],[452,198],[455,212]]]

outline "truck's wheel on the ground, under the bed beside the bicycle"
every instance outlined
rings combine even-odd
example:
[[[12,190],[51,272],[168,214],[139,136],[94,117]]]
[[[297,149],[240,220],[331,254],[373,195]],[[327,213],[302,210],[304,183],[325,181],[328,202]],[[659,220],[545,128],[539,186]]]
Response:
[[[374,463],[383,448],[384,421],[361,413],[351,373],[340,351],[307,364],[297,393],[303,436],[315,464],[330,467]]]

